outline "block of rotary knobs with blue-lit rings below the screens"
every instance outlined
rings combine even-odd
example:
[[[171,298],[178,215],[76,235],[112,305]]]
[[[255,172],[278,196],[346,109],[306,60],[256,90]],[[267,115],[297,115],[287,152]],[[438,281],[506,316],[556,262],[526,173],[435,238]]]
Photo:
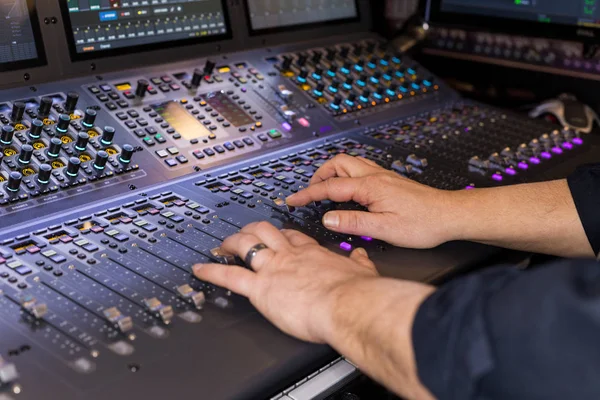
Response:
[[[434,79],[375,41],[282,54],[281,74],[335,116],[435,92]]]

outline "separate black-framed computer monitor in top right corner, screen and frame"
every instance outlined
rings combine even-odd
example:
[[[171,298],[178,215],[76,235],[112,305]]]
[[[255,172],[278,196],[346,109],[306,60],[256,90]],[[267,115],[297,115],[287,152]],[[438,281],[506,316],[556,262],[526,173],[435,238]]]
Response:
[[[428,0],[431,22],[567,40],[600,37],[597,0]]]

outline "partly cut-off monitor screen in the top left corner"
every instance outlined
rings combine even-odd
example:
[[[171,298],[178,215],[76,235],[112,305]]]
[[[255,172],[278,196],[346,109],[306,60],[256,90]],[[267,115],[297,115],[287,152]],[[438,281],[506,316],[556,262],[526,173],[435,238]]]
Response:
[[[0,0],[0,71],[45,64],[35,0]]]

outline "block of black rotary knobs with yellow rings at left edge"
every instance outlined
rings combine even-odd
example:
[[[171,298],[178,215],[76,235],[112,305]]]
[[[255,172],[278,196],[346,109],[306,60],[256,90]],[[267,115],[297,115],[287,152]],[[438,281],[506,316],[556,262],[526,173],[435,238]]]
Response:
[[[77,109],[75,92],[16,101],[0,114],[0,204],[25,200],[138,169],[133,146],[96,126],[97,111]]]

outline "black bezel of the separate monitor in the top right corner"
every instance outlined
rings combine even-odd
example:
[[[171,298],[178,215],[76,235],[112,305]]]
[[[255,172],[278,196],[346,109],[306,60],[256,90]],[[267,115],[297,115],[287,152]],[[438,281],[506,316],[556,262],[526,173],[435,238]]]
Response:
[[[578,42],[595,43],[600,38],[600,28],[595,27],[442,11],[443,1],[422,1],[422,3],[426,3],[424,10],[426,20],[433,24],[455,25],[485,31],[520,34],[530,37],[549,37]],[[507,24],[507,21],[510,21],[510,23]]]

